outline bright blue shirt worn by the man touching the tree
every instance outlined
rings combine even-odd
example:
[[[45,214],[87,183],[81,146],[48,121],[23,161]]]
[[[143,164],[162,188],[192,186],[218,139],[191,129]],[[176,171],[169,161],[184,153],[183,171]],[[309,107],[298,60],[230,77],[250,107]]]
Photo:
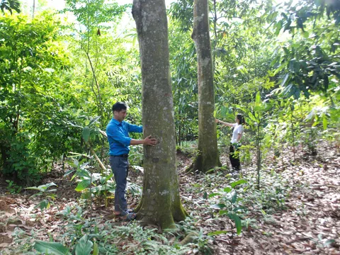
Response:
[[[129,132],[143,132],[142,126],[132,125],[130,123],[119,122],[112,118],[106,127],[106,135],[108,135],[108,145],[110,146],[109,155],[118,156],[128,154],[131,138]]]

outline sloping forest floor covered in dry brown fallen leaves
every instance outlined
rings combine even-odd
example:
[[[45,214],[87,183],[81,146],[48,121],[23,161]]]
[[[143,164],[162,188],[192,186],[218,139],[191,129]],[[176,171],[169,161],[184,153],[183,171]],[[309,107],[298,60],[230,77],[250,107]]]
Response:
[[[339,151],[322,144],[316,157],[298,150],[295,160],[292,149],[283,151],[277,159],[268,156],[264,162],[260,191],[255,185],[254,162],[244,167],[242,176],[233,176],[227,169],[207,175],[185,174],[191,159],[178,154],[183,206],[191,215],[193,228],[203,233],[206,246],[206,249],[195,246],[186,254],[208,251],[212,254],[340,254]],[[221,161],[225,166],[229,164],[225,154]],[[130,171],[129,176],[132,183],[142,184],[140,171]],[[243,222],[242,233],[237,235],[233,222],[226,215],[220,215],[214,205],[227,203],[229,194],[223,194],[221,189],[240,178],[248,185],[235,189],[238,199],[231,205],[240,208]],[[23,246],[29,246],[28,242],[58,240],[64,233],[64,221],[57,213],[67,205],[77,206],[79,193],[74,191],[74,181],[63,177],[60,167],[44,177],[43,183],[50,182],[58,186],[57,199],[43,212],[34,209],[41,198],[30,198],[33,193],[28,191],[8,194],[7,183],[0,183],[0,254],[27,253]],[[128,194],[128,204],[132,208],[138,200],[139,196]],[[113,212],[112,206],[105,208],[103,205],[84,210],[84,217],[98,217],[102,222],[109,221],[108,215]],[[115,219],[111,222],[128,225]],[[208,237],[216,231],[221,232]],[[13,233],[16,234],[13,236]],[[126,244],[126,240],[115,244],[122,249],[118,254],[134,254]]]

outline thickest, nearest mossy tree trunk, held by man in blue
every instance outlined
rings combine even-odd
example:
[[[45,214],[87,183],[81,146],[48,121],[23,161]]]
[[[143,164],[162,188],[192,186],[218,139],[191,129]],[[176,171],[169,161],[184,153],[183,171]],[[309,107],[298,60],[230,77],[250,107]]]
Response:
[[[137,219],[162,229],[174,228],[187,213],[179,197],[176,172],[174,106],[169,70],[169,45],[164,0],[134,0],[142,66],[142,119],[144,137],[159,143],[144,148],[144,183]]]

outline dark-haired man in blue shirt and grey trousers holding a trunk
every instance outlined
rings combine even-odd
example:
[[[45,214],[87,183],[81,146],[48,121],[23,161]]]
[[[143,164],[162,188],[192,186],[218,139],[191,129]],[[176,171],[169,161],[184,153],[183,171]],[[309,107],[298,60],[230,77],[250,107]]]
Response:
[[[110,165],[115,175],[115,215],[120,215],[126,220],[133,220],[134,213],[128,212],[125,199],[126,179],[128,177],[129,145],[156,145],[157,140],[151,135],[143,140],[129,137],[129,132],[143,132],[142,126],[132,125],[124,121],[128,106],[117,102],[112,106],[113,118],[106,127],[108,144],[110,146]]]

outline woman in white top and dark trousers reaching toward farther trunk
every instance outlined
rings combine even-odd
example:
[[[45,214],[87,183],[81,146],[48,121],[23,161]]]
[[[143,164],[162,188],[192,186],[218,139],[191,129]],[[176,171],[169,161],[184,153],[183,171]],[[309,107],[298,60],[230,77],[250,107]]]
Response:
[[[221,123],[222,125],[234,128],[232,132],[232,140],[230,142],[229,159],[230,163],[232,163],[232,169],[239,171],[239,169],[241,169],[241,164],[239,162],[239,141],[241,141],[243,135],[242,124],[244,124],[244,117],[242,114],[237,114],[235,118],[236,123],[225,123],[217,119],[215,121],[216,123]]]

